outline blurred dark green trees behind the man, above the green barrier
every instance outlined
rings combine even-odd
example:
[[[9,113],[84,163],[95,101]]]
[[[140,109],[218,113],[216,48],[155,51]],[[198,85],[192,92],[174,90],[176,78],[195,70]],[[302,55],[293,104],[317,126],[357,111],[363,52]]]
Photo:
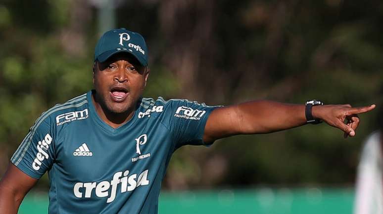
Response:
[[[109,27],[145,37],[146,97],[362,106],[381,102],[382,23],[381,0],[0,0],[0,175],[41,112],[92,88]],[[184,146],[163,190],[352,188],[376,113],[347,140],[320,124]]]

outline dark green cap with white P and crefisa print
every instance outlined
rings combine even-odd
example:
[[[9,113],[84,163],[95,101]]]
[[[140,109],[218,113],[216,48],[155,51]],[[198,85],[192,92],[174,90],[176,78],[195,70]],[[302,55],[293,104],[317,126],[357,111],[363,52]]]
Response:
[[[147,48],[144,37],[125,28],[105,32],[98,40],[95,61],[105,62],[116,53],[131,53],[143,66],[147,66]]]

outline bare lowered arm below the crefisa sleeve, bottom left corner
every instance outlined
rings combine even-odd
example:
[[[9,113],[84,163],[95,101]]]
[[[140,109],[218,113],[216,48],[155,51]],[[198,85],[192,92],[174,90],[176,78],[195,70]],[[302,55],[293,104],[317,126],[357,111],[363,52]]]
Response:
[[[24,196],[36,182],[37,179],[29,177],[10,163],[0,180],[0,213],[17,214]]]

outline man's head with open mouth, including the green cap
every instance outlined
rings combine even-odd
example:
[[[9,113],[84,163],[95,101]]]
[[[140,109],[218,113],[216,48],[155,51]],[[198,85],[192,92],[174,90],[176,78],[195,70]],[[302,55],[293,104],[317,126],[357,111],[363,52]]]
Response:
[[[95,50],[96,102],[111,113],[134,109],[149,74],[144,38],[125,29],[106,32]]]

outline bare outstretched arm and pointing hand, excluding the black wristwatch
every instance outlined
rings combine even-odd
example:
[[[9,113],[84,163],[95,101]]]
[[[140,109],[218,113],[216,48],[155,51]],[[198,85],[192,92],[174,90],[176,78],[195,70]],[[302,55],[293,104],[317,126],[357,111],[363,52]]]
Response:
[[[334,126],[346,136],[355,136],[359,125],[358,113],[375,108],[350,105],[314,106],[312,115]],[[344,123],[344,121],[346,123]],[[262,134],[290,129],[306,124],[305,106],[273,101],[252,101],[214,109],[207,119],[203,140],[212,142],[239,134]]]

